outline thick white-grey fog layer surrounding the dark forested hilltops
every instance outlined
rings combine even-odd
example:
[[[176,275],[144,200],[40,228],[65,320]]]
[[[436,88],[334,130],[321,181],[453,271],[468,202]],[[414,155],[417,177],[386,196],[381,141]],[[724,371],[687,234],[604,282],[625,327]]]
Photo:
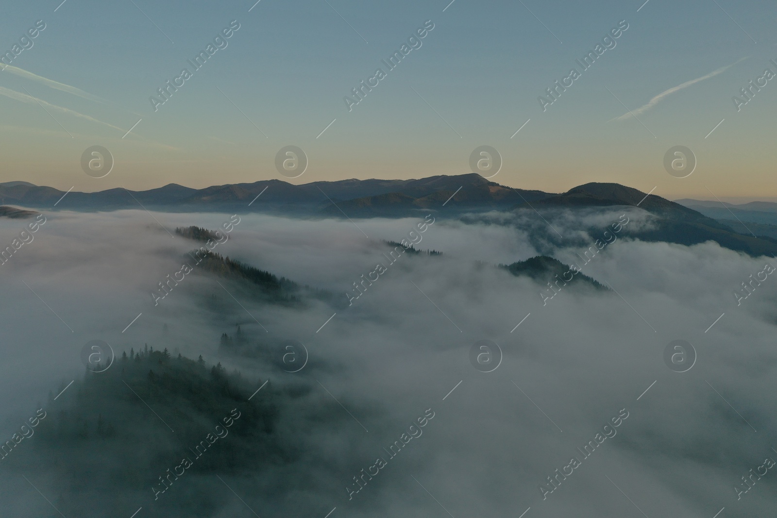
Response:
[[[734,487],[765,457],[777,458],[770,390],[777,281],[769,277],[740,305],[733,291],[773,258],[715,243],[618,238],[583,268],[613,290],[570,285],[545,305],[547,286],[497,268],[538,253],[579,264],[578,254],[621,214],[630,228],[651,224],[642,210],[618,207],[564,211],[548,223],[532,211],[463,221],[437,216],[416,248],[443,254],[405,253],[351,306],[345,294],[352,283],[388,260],[382,240],[401,240],[420,219],[357,220],[355,228],[350,221],[241,216],[214,252],[342,297],[298,307],[262,302],[245,283],[196,266],[154,304],[151,291],[201,244],[174,228],[216,229],[231,214],[155,214],[166,230],[143,211],[47,214],[34,241],[0,266],[0,431],[12,436],[47,405],[49,391],[81,379],[80,352],[89,340],[103,339],[119,355],[148,343],[304,393],[280,408],[277,425],[295,457],[268,460],[253,475],[222,474],[222,481],[196,466],[187,472],[219,502],[207,516],[252,516],[246,506],[259,516],[320,518],[333,508],[332,518],[521,516],[529,507],[525,518],[640,511],[709,518],[724,506],[723,516],[766,516],[771,471],[740,499]],[[0,243],[10,245],[20,228],[2,221]],[[234,337],[237,325],[249,343],[264,344],[265,356],[220,356],[219,337]],[[291,374],[279,367],[287,352],[273,345],[280,339],[305,345],[305,368]],[[490,373],[470,363],[473,344],[483,339],[502,353]],[[697,355],[685,373],[664,363],[664,349],[677,339]],[[55,414],[62,400],[47,412]],[[580,450],[624,409],[629,416],[617,433],[585,457]],[[389,447],[429,410],[434,418],[423,434],[391,457]],[[138,419],[156,418],[146,412]],[[20,443],[19,453],[45,466],[36,439]],[[378,457],[385,461],[372,468],[378,475],[355,481]],[[548,477],[572,457],[580,466],[543,494],[540,485],[552,487]],[[16,505],[9,509],[53,513],[22,477],[26,471],[2,469],[2,499]],[[148,478],[143,493],[115,488],[121,504],[110,511],[89,502],[61,511],[131,516],[143,505],[141,513],[157,516],[155,504],[136,502],[152,496],[158,475],[138,475]],[[187,483],[177,488],[185,492]],[[55,495],[77,487],[88,493],[89,481],[51,475],[35,485],[56,503]]]

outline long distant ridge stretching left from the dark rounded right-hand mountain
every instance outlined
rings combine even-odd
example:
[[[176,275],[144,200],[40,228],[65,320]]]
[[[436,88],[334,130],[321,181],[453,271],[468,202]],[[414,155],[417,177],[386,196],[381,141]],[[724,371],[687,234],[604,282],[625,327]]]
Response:
[[[504,210],[524,200],[531,202],[552,196],[542,191],[500,186],[472,173],[410,180],[350,179],[299,186],[280,180],[205,189],[170,183],[145,191],[108,189],[97,193],[71,192],[59,203],[57,201],[65,193],[52,187],[26,182],[0,184],[2,203],[49,210],[57,203],[56,209],[59,210],[119,210],[142,205],[148,209],[177,212],[240,210],[322,216],[342,216],[340,210],[343,210],[349,217],[418,214],[429,207],[440,207],[454,193],[456,203],[451,203],[452,210]],[[260,198],[251,203],[260,194]]]

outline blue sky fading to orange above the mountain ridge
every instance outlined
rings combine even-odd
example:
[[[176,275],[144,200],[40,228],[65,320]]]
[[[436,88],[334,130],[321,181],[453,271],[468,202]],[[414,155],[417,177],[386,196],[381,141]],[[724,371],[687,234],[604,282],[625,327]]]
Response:
[[[766,68],[777,73],[772,2],[448,2],[9,5],[0,52],[19,47],[0,71],[0,181],[90,192],[409,179],[472,172],[470,154],[489,145],[503,158],[491,179],[508,186],[777,200],[777,86],[738,111],[732,99]],[[45,28],[19,43],[36,23]],[[223,48],[194,68],[187,60],[231,23]],[[382,60],[425,24],[434,28],[411,42],[420,47],[389,70]],[[615,47],[577,64],[619,25],[605,42]],[[190,78],[154,106],[183,68]],[[343,98],[375,84],[376,68],[385,77],[349,109]],[[543,106],[571,68],[580,77]],[[104,178],[82,171],[93,145],[113,155]],[[308,157],[296,179],[275,167],[287,145]],[[664,168],[677,145],[697,160],[686,178]]]

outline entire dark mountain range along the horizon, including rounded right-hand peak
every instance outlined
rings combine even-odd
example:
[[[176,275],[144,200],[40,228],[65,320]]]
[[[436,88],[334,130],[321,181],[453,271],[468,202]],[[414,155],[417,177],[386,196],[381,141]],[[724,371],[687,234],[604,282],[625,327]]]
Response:
[[[144,207],[169,212],[269,212],[304,217],[409,217],[436,210],[445,210],[451,217],[489,210],[531,210],[552,217],[559,210],[639,206],[653,214],[656,221],[650,230],[629,229],[626,234],[634,238],[681,245],[712,240],[753,256],[777,254],[777,239],[771,237],[770,232],[759,228],[760,234],[753,231],[754,235],[751,235],[737,221],[737,217],[745,222],[753,221],[752,218],[768,219],[768,216],[772,219],[754,222],[777,224],[777,203],[729,204],[720,208],[698,200],[674,203],[617,183],[587,183],[566,193],[545,193],[514,189],[476,174],[466,174],[409,180],[349,179],[298,186],[280,180],[262,180],[205,189],[171,183],[145,191],[108,189],[98,193],[64,193],[52,187],[8,182],[0,184],[0,201],[46,210]],[[732,213],[735,214],[733,218]],[[737,226],[732,228],[720,219],[737,221]],[[777,229],[774,236],[777,236]]]

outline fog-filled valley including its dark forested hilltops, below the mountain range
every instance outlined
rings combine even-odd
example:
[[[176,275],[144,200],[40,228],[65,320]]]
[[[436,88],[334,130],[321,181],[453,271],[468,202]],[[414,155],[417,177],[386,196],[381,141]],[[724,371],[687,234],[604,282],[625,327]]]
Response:
[[[40,210],[4,514],[767,516],[775,259],[541,211]]]

